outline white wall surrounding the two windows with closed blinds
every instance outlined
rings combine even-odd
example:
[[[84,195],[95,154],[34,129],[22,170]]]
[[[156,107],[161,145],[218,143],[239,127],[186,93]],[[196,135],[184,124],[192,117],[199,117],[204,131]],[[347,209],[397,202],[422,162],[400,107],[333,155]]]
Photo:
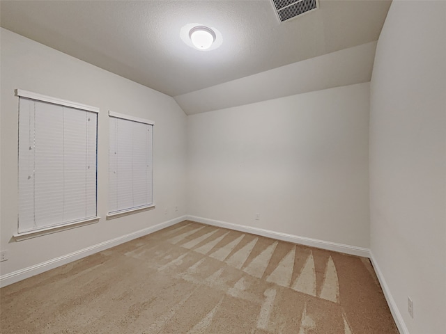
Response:
[[[17,232],[17,124],[22,88],[100,107],[98,223],[15,242]],[[157,207],[106,220],[108,111],[155,121],[154,198]],[[186,214],[186,116],[173,98],[1,29],[1,275],[76,252]],[[49,129],[49,131],[51,131]],[[178,206],[178,212],[174,207]],[[164,214],[164,208],[169,212]]]

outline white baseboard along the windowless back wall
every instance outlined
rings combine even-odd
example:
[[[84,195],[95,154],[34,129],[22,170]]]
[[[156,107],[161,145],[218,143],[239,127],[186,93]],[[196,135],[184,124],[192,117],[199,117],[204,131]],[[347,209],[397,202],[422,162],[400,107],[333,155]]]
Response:
[[[283,241],[289,241],[289,242],[293,242],[295,244],[312,246],[312,247],[316,247],[316,248],[323,248],[326,250],[334,250],[335,252],[357,255],[357,256],[362,256],[362,257],[370,257],[369,248],[337,244],[335,242],[323,241],[323,240],[312,239],[312,238],[307,238],[307,237],[299,237],[299,236],[293,235],[293,234],[275,232],[275,231],[271,231],[271,230],[263,230],[262,228],[252,228],[250,226],[226,223],[225,221],[215,221],[214,219],[208,219],[208,218],[197,217],[197,216],[187,216],[187,219],[190,221],[197,221],[198,223],[218,226],[220,228],[229,228],[231,230],[237,230],[240,232],[261,235],[262,237],[268,237],[268,238],[279,239],[279,240],[283,240]]]

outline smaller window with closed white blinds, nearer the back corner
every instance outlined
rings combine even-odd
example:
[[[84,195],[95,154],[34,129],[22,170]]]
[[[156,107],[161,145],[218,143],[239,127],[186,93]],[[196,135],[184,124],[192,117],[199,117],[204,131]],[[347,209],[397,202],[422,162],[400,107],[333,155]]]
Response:
[[[109,216],[153,207],[151,120],[109,112]]]

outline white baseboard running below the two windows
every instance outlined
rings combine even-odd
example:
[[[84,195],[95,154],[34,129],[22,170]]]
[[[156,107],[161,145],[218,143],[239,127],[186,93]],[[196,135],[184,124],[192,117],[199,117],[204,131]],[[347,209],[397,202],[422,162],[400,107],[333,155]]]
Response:
[[[181,221],[185,221],[186,218],[187,216],[180,216],[178,218],[172,219],[171,221],[164,221],[164,223],[151,226],[150,228],[144,228],[136,232],[125,234],[121,237],[107,240],[101,242],[100,244],[95,244],[93,246],[77,250],[73,253],[56,257],[52,260],[48,260],[39,264],[35,264],[31,267],[13,271],[12,273],[6,273],[5,275],[0,276],[0,287],[6,287],[6,285],[10,285],[20,280],[24,280],[25,278],[38,275],[39,273],[43,273],[44,271],[48,271],[50,269],[63,266],[63,264],[67,264],[82,259],[82,257],[98,253],[101,250],[118,246],[120,244],[123,244],[124,242],[137,239],[139,237],[144,237],[144,235],[146,234],[151,234],[153,232],[156,232],[157,230],[162,230],[163,228],[167,228],[176,223],[180,223]]]

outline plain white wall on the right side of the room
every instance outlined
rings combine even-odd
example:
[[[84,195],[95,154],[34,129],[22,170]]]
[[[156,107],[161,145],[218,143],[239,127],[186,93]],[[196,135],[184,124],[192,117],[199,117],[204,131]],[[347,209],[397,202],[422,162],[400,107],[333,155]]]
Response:
[[[411,334],[446,328],[445,22],[445,1],[393,1],[371,79],[371,252]]]

